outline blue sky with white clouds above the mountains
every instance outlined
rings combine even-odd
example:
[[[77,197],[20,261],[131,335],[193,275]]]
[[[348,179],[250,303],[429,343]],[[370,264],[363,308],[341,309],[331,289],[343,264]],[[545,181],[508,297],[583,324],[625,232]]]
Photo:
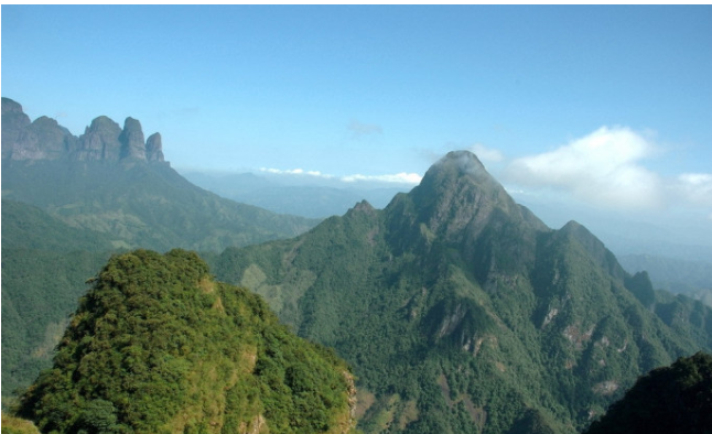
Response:
[[[412,184],[472,149],[513,192],[712,224],[710,6],[1,14],[2,96],[77,135],[137,118],[179,170]]]

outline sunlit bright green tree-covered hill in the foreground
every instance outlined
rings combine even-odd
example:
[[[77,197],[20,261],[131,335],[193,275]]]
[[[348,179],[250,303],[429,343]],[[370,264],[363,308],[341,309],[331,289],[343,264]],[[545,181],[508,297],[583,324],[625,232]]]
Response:
[[[42,432],[346,433],[353,378],[195,253],[115,256],[18,415]]]

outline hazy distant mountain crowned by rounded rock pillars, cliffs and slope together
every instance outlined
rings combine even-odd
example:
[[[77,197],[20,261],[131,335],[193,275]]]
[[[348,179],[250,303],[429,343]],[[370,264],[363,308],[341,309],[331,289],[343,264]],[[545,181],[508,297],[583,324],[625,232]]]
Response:
[[[69,226],[108,236],[115,248],[219,252],[295,236],[317,220],[276,215],[187,182],[164,161],[160,134],[143,140],[98,117],[80,137],[2,98],[2,197],[42,208]]]

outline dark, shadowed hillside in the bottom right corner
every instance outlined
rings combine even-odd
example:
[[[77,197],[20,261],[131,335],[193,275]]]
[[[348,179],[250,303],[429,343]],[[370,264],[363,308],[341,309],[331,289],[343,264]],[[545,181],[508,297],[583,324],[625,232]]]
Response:
[[[585,434],[703,434],[712,430],[712,356],[698,352],[636,381]]]

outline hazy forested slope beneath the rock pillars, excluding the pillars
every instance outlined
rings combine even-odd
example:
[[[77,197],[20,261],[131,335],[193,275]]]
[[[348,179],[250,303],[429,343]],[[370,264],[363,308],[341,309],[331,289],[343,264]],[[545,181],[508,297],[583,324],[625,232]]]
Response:
[[[316,223],[224,199],[164,164],[4,160],[2,188],[4,198],[123,248],[222,251],[292,237]]]

